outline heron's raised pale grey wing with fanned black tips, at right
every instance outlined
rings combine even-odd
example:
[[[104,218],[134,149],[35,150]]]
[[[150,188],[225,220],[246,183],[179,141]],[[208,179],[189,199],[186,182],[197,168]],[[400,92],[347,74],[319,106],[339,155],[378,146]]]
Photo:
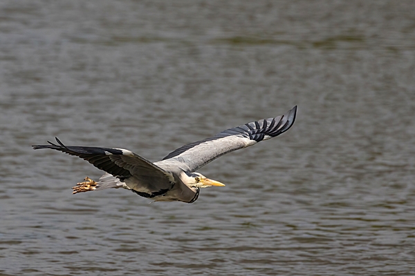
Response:
[[[163,161],[158,161],[156,164],[162,168],[169,168],[176,164],[184,170],[193,172],[221,155],[252,146],[259,141],[268,140],[286,132],[293,126],[296,113],[297,106],[294,106],[286,115],[223,130],[214,137],[196,141],[170,152],[163,158]]]

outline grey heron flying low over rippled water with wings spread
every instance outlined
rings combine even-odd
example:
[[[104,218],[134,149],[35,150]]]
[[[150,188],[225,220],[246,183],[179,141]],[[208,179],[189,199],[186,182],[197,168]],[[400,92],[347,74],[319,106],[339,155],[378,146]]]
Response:
[[[294,106],[285,115],[223,130],[214,137],[182,146],[154,163],[130,150],[65,146],[57,138],[57,144],[48,141],[48,145],[37,145],[33,148],[50,148],[75,155],[106,172],[99,181],[86,177],[84,182],[73,187],[74,194],[125,188],[154,201],[193,203],[199,197],[200,188],[225,186],[196,170],[228,152],[252,146],[286,132],[293,126],[296,113],[297,106]]]

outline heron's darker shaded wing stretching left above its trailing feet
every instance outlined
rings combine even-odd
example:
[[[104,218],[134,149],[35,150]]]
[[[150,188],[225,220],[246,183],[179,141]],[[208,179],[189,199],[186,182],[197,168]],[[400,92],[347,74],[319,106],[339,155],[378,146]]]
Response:
[[[48,141],[49,145],[38,145],[33,146],[33,148],[35,150],[50,148],[68,153],[68,155],[75,155],[122,180],[132,177],[131,182],[134,185],[129,184],[127,181],[127,186],[144,193],[157,193],[160,190],[172,187],[170,182],[174,181],[174,178],[169,172],[129,150],[122,148],[65,146],[59,139],[56,138],[56,141],[57,144]]]

